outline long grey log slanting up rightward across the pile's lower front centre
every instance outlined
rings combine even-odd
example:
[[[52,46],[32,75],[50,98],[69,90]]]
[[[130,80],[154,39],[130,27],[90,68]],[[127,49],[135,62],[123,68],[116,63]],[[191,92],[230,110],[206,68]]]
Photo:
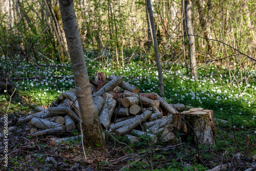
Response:
[[[142,124],[143,121],[145,121],[146,119],[148,119],[149,117],[151,117],[152,112],[147,110],[145,111],[143,114],[141,114],[140,116],[134,118],[132,120],[131,123],[126,123],[125,125],[123,125],[122,127],[120,127],[119,129],[117,129],[115,131],[115,135],[117,136],[122,136],[124,134],[129,133],[130,131],[132,131],[136,126]]]

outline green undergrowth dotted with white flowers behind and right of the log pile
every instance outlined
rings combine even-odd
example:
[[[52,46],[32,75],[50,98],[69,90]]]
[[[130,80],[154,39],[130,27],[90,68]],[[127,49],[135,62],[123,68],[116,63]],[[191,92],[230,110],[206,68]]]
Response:
[[[16,57],[18,60],[19,56]],[[91,62],[93,58],[93,54],[86,54],[90,79],[93,80],[96,72],[104,72],[107,77],[111,74],[120,75],[124,81],[139,87],[143,93],[159,93],[158,72],[153,60],[135,55],[134,59],[124,63],[123,67],[122,63],[121,67],[117,67],[111,59],[108,62]],[[52,62],[46,65],[45,61],[41,61],[38,65],[42,69],[25,60],[19,62],[19,65],[15,63],[16,61],[13,61],[8,68],[14,71],[10,72],[10,78],[28,79],[12,81],[17,89],[12,96],[10,106],[9,100],[13,90],[7,92],[2,90],[0,111],[6,112],[9,106],[10,114],[14,112],[26,114],[37,105],[49,106],[62,92],[75,87],[70,63],[55,66]],[[200,151],[205,151],[201,153],[204,160],[211,160],[214,157],[221,161],[225,151],[229,157],[238,152],[248,157],[256,153],[252,145],[248,147],[247,152],[246,146],[247,135],[250,137],[250,142],[256,142],[255,70],[240,71],[238,67],[233,66],[229,69],[234,75],[230,76],[226,66],[211,65],[198,70],[199,80],[196,81],[186,75],[184,63],[168,62],[163,63],[162,67],[165,98],[168,103],[183,103],[194,108],[210,109],[214,111],[214,117],[228,121],[228,123],[216,124],[216,145],[199,146]],[[123,137],[118,140],[128,143]],[[151,147],[156,149],[166,145],[168,144],[158,141],[156,144],[151,144]],[[150,148],[146,137],[140,137],[140,141],[130,147],[134,152],[143,152]],[[124,148],[124,151],[131,153],[129,148]],[[152,164],[155,170],[205,170],[206,168],[200,163],[186,163],[186,160],[194,160],[194,153],[196,153],[195,146],[189,144],[169,151],[155,152],[152,154]],[[181,162],[179,158],[183,156],[187,157]],[[162,163],[165,163],[164,168],[160,167]],[[138,161],[131,162],[130,167],[124,170],[149,168],[148,164]]]

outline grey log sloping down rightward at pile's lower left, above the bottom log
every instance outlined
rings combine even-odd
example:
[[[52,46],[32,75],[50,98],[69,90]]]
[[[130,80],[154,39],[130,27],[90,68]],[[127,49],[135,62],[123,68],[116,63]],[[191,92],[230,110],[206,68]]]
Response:
[[[49,120],[40,119],[40,118],[32,118],[31,124],[39,129],[45,129],[45,128],[54,128],[54,127],[61,127],[62,131],[65,131],[65,125],[59,124],[56,122],[51,122]]]

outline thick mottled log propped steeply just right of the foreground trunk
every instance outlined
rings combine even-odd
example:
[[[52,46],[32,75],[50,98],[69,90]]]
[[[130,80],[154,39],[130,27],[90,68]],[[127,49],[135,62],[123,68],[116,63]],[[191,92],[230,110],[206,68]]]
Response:
[[[110,125],[110,120],[115,107],[116,100],[114,100],[112,97],[106,98],[106,102],[99,113],[99,122],[104,126],[105,129],[107,129]]]

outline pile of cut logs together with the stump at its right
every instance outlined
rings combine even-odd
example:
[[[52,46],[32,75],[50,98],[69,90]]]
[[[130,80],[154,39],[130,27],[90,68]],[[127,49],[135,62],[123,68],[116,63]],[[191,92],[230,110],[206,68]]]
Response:
[[[117,136],[126,136],[130,142],[139,136],[150,136],[153,143],[157,135],[162,141],[178,141],[175,131],[194,136],[200,144],[215,144],[213,112],[193,108],[183,112],[184,104],[168,104],[156,93],[139,93],[139,89],[111,75],[97,73],[92,84],[92,96],[99,122],[104,130]],[[48,110],[38,106],[38,113],[18,119],[29,122],[30,136],[71,132],[79,129],[78,102],[75,89],[64,92],[54,100]],[[40,130],[38,130],[40,129]],[[86,133],[85,133],[86,134]]]

